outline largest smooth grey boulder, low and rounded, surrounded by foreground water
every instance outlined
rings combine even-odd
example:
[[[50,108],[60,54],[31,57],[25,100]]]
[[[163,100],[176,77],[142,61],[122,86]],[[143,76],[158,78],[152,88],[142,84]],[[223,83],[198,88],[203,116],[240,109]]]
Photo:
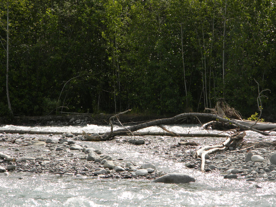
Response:
[[[163,182],[163,183],[187,183],[195,182],[195,179],[188,174],[182,173],[170,173],[157,178],[153,182]]]

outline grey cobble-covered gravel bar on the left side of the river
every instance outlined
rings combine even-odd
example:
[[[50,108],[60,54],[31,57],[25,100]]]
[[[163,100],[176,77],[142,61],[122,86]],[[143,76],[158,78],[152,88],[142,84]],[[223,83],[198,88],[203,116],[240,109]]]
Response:
[[[48,138],[29,135],[0,134],[0,151],[16,159],[0,158],[0,172],[29,172],[63,175],[86,175],[101,178],[154,179],[164,175],[154,165],[138,165],[114,159],[100,150],[81,144],[82,137],[71,133]],[[75,140],[74,140],[75,139]]]

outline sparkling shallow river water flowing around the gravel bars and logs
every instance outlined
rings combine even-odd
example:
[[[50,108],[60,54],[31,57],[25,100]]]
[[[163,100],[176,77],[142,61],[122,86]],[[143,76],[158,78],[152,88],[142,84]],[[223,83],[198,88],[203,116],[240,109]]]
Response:
[[[206,133],[197,125],[171,125],[169,130],[181,133]],[[85,127],[19,127],[6,125],[0,129],[22,129],[67,132],[106,132],[107,126]],[[115,128],[116,129],[116,128]],[[150,127],[144,131],[162,131]],[[212,133],[217,131],[212,130]],[[32,135],[33,136],[33,135]],[[43,137],[39,135],[37,137]],[[258,139],[260,135],[247,132],[246,140]],[[45,136],[48,137],[48,136]],[[188,169],[183,162],[167,159],[162,146],[177,144],[180,138],[151,137],[152,145],[109,142],[80,142],[88,147],[100,149],[114,158],[136,163],[152,163],[157,170],[181,172],[192,175],[196,182],[188,184],[153,183],[146,179],[106,179],[86,176],[63,176],[49,174],[10,173],[0,174],[0,206],[275,206],[276,182],[246,182],[245,179],[224,179],[219,173],[201,173]],[[263,140],[275,140],[275,136]],[[194,138],[198,143],[214,144],[223,138]],[[22,178],[22,179],[19,179]],[[256,189],[255,185],[262,186]]]

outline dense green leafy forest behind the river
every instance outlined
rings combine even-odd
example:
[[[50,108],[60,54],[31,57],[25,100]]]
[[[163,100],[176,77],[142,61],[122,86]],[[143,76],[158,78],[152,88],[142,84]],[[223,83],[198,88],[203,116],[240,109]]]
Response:
[[[3,0],[2,115],[7,1],[14,114],[276,109],[275,0]]]

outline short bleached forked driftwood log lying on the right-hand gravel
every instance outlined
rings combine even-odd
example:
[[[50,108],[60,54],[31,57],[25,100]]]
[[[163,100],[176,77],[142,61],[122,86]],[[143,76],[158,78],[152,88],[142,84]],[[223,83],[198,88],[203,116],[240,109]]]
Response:
[[[224,151],[227,150],[229,147],[237,147],[243,142],[243,137],[246,135],[245,132],[242,133],[234,133],[228,137],[226,141],[222,144],[214,145],[214,146],[206,146],[200,148],[196,151],[195,156],[201,158],[201,171],[204,172],[204,165],[205,165],[205,155],[212,154],[217,151]]]

